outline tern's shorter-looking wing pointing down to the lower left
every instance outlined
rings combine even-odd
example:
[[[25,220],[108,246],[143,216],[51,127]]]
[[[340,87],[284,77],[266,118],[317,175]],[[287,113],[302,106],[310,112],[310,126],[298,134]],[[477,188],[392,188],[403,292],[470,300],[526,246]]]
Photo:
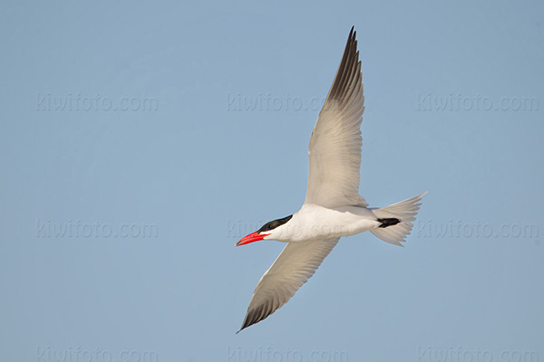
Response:
[[[240,330],[266,319],[286,304],[302,284],[314,275],[338,239],[287,243],[276,262],[258,281]]]

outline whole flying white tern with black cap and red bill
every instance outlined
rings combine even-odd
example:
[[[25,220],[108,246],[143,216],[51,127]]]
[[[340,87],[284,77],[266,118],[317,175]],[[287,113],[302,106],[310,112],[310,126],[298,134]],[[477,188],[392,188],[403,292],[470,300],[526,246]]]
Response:
[[[383,208],[367,208],[358,192],[364,95],[355,35],[352,27],[310,138],[304,205],[295,214],[264,224],[236,243],[287,243],[258,282],[238,332],[286,304],[316,272],[340,237],[370,231],[384,242],[402,246],[412,230],[426,192]]]

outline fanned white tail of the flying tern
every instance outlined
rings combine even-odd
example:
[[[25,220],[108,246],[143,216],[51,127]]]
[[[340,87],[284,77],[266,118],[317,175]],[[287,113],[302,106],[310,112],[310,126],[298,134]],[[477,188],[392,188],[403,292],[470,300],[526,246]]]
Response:
[[[420,201],[425,194],[427,194],[426,191],[400,203],[382,207],[381,209],[372,209],[382,225],[370,232],[386,243],[403,246],[401,242],[405,242],[404,238],[410,234],[415,215],[420,205],[422,205]]]

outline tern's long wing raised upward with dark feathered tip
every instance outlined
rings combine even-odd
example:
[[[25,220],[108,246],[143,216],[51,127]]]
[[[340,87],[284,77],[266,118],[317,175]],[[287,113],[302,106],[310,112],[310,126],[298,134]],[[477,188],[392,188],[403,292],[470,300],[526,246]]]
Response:
[[[354,28],[310,138],[306,204],[367,206],[359,195],[364,94]]]

